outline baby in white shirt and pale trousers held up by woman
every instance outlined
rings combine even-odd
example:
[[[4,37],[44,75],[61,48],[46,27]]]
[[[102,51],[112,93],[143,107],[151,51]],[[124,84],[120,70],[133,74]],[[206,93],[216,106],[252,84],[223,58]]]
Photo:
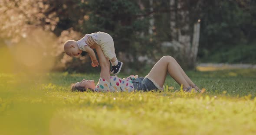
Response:
[[[90,48],[85,41],[87,41],[91,37],[102,49],[105,57],[107,57],[112,63],[112,69],[110,74],[117,75],[121,67],[123,65],[122,62],[118,61],[115,55],[115,47],[114,41],[108,33],[105,32],[95,32],[91,34],[86,34],[82,39],[75,41],[75,40],[68,40],[64,44],[64,50],[67,55],[69,56],[78,56],[82,53],[82,51],[86,51],[89,53],[89,56],[92,60],[92,67],[98,67],[99,63],[96,58],[95,52],[92,48]]]

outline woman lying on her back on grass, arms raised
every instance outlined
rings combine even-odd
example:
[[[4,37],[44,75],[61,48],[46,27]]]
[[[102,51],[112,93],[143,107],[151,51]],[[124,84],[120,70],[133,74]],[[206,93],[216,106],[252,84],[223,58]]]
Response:
[[[199,92],[200,89],[190,80],[185,74],[181,66],[171,56],[162,57],[151,69],[146,77],[129,76],[126,78],[119,78],[118,76],[110,76],[110,63],[102,52],[102,49],[90,38],[88,38],[87,45],[95,48],[99,58],[101,67],[100,78],[98,84],[95,86],[94,80],[85,80],[72,84],[72,91],[86,91],[92,90],[96,92],[115,92],[135,90],[163,90],[166,73],[178,83],[183,84],[183,90],[187,92]]]

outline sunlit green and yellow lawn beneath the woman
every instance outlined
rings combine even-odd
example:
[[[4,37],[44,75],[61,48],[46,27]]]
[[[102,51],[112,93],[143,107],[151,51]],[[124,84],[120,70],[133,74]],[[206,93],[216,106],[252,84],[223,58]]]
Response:
[[[171,77],[162,93],[70,92],[99,74],[1,73],[0,135],[255,134],[256,70],[187,74],[206,92],[174,92]]]

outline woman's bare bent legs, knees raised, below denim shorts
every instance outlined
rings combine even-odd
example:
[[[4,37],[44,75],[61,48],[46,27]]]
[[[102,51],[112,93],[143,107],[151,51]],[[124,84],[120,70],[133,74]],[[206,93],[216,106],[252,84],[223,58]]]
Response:
[[[148,77],[153,79],[160,87],[162,87],[164,85],[167,72],[178,84],[183,84],[184,88],[190,87],[181,73],[181,69],[177,64],[177,61],[171,56],[162,57],[151,69]]]

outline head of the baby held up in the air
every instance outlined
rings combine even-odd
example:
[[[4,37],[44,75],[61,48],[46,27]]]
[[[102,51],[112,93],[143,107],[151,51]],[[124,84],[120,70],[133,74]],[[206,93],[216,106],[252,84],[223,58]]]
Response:
[[[82,53],[82,50],[78,48],[78,45],[75,40],[68,40],[64,44],[64,51],[69,56],[78,56]]]

